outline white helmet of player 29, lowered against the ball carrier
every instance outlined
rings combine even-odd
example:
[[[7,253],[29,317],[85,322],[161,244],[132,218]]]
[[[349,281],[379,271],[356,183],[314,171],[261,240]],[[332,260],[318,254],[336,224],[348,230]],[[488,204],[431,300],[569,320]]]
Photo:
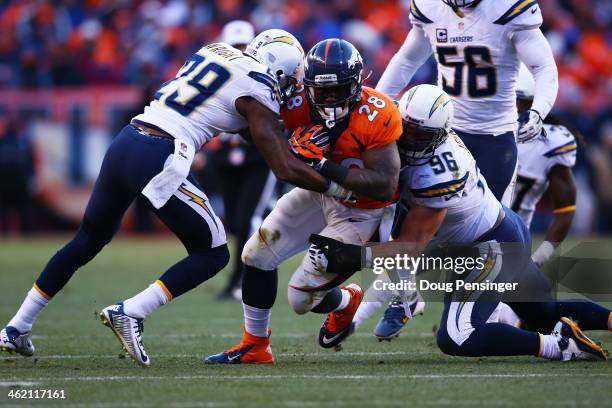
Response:
[[[276,75],[285,103],[304,74],[304,49],[291,33],[271,29],[259,33],[244,52],[270,68]]]

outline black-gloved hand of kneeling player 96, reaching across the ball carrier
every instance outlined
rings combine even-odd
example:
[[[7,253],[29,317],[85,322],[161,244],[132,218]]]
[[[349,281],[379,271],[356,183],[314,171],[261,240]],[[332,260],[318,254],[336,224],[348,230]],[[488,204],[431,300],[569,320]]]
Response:
[[[327,258],[326,272],[352,275],[361,269],[362,248],[359,245],[343,244],[318,234],[311,234],[310,242],[315,244]]]

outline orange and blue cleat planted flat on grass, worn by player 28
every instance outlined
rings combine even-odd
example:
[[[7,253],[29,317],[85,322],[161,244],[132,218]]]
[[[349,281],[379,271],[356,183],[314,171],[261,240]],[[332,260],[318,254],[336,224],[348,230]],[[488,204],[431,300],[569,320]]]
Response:
[[[234,347],[219,354],[206,357],[206,364],[272,364],[274,356],[270,347],[270,334],[267,337],[253,336],[246,330],[242,333],[242,341]]]

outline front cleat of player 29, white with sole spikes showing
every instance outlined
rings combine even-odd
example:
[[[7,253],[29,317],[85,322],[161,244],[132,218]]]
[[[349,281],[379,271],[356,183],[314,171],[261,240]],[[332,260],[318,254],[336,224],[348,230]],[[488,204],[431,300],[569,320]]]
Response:
[[[142,344],[144,319],[126,315],[123,311],[123,302],[102,309],[100,319],[105,326],[111,328],[121,342],[123,350],[134,361],[143,366],[150,364],[151,361]]]

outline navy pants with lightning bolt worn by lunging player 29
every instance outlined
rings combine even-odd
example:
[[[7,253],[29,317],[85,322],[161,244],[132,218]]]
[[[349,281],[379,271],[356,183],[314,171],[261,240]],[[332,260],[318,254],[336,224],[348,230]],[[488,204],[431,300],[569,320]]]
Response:
[[[51,258],[36,281],[46,295],[59,292],[78,268],[111,241],[134,198],[162,171],[173,152],[172,140],[144,135],[132,125],[123,128],[106,152],[79,230]],[[229,261],[223,225],[208,206],[201,188],[191,176],[181,188],[185,197],[175,194],[159,210],[150,206],[188,253],[160,277],[172,297],[211,278]],[[190,202],[199,202],[199,207]],[[221,245],[213,248],[213,242],[220,241]]]

